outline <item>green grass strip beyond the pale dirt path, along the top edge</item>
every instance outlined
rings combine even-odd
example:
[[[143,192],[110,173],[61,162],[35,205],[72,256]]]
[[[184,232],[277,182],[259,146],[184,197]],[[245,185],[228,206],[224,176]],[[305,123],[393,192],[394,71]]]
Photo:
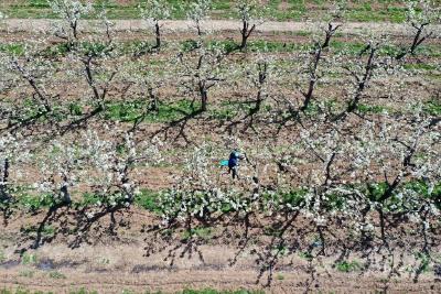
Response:
[[[97,0],[94,7],[105,7],[110,19],[139,19],[137,6],[140,1],[133,0],[126,4],[118,4],[115,0]],[[331,1],[324,0],[269,0],[263,12],[269,20],[289,21],[304,19],[321,19],[327,14]],[[185,0],[169,0],[172,8],[173,19],[184,19],[186,12]],[[19,0],[6,1],[3,8],[11,18],[45,18],[52,19],[56,15],[50,9],[46,0]],[[213,19],[229,19],[235,17],[234,1],[213,0]],[[96,15],[90,15],[96,18]],[[390,21],[402,22],[406,19],[406,9],[401,1],[396,0],[361,0],[351,2],[346,13],[349,21],[377,22]]]

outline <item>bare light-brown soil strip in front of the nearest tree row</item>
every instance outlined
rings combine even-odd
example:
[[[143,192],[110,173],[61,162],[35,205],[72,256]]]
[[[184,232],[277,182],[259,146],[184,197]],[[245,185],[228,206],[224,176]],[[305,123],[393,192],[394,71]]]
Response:
[[[97,239],[90,244],[68,249],[57,239],[22,258],[14,253],[20,248],[17,228],[36,220],[36,217],[15,218],[2,227],[0,250],[0,290],[26,288],[69,293],[85,288],[98,293],[174,293],[183,288],[263,290],[266,293],[441,293],[441,280],[432,272],[423,273],[413,283],[409,273],[388,276],[387,272],[341,272],[332,264],[336,258],[325,258],[314,264],[300,255],[281,260],[273,269],[271,287],[265,287],[266,276],[257,283],[258,270],[249,252],[243,252],[238,262],[229,260],[237,248],[228,243],[204,244],[198,254],[176,257],[171,266],[169,250],[146,255],[146,233],[142,224],[151,221],[146,211],[133,211],[133,224],[120,231],[118,239]],[[179,254],[178,254],[179,255]],[[32,257],[32,258],[30,258]]]

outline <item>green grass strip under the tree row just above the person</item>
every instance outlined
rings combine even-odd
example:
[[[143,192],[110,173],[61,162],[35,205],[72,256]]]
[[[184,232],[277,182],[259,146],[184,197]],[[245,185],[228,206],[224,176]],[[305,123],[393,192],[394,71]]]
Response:
[[[24,104],[26,112],[22,113],[20,119],[11,121],[12,123],[20,123],[26,121],[29,118],[35,117],[41,108],[33,104],[32,100],[26,100]],[[191,116],[200,109],[201,104],[198,101],[192,102],[189,99],[180,99],[174,102],[160,101],[157,110],[150,109],[149,99],[137,99],[132,101],[120,101],[120,102],[107,102],[105,110],[99,115],[105,120],[119,121],[119,122],[135,122],[141,120],[147,123],[169,123]],[[224,101],[220,105],[212,105],[205,112],[205,117],[214,121],[232,121],[233,119],[240,116],[240,113],[247,113],[252,105],[249,104],[230,104]],[[323,107],[323,106],[322,106]],[[334,99],[326,100],[324,107],[329,111],[337,113],[345,107],[344,102],[336,101]],[[88,111],[86,109],[93,109],[93,106],[79,105],[72,102],[66,106],[53,106],[51,112],[51,119],[58,122],[80,119],[86,116]],[[272,110],[271,105],[265,105],[260,109],[260,113],[270,115]],[[321,112],[321,107],[318,102],[311,101],[308,109],[304,111],[308,116],[316,116]],[[358,104],[357,112],[362,115],[402,115],[406,112],[404,109],[396,109],[394,107],[386,107],[380,105],[370,104]],[[441,116],[441,102],[432,99],[428,100],[422,106],[422,112],[428,116]],[[49,118],[40,117],[39,121],[44,122]]]

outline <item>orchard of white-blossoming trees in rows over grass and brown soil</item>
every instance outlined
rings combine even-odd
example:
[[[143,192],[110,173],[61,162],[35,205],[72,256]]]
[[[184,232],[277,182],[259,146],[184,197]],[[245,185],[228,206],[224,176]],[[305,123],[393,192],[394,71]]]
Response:
[[[0,270],[136,243],[169,269],[228,248],[252,288],[441,291],[439,1],[389,26],[325,1],[273,31],[275,1],[229,2],[234,30],[222,1],[133,1],[129,29],[106,1],[41,2],[32,32],[0,11]]]

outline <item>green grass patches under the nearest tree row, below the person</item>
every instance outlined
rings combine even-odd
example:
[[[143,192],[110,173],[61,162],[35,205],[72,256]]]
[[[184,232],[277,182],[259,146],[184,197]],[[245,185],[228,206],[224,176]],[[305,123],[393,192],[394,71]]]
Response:
[[[347,188],[351,188],[351,185],[347,185]],[[372,184],[365,184],[358,187],[364,195],[372,202],[378,202],[380,197],[385,194],[387,190],[388,185],[386,183],[372,183]],[[384,210],[390,211],[390,213],[401,213],[401,211],[408,211],[409,209],[415,209],[413,205],[411,202],[402,202],[401,200],[401,195],[400,192],[404,189],[412,190],[416,194],[420,195],[422,198],[431,199],[434,205],[441,209],[441,183],[435,185],[432,190],[430,190],[430,187],[428,186],[427,183],[421,182],[421,181],[410,181],[407,183],[404,183],[401,187],[396,190],[390,198],[388,198],[384,203]],[[166,190],[165,190],[166,192]],[[155,190],[150,190],[150,189],[142,189],[141,193],[139,193],[135,199],[135,205],[139,208],[146,209],[152,214],[155,214],[158,216],[161,216],[164,210],[168,209],[174,209],[174,206],[181,206],[181,199],[180,195],[175,195],[175,203],[171,204],[165,200],[161,200],[161,195],[164,192],[155,192]],[[295,207],[302,207],[305,202],[305,196],[308,195],[308,190],[304,188],[292,188],[291,190],[288,192],[279,192],[277,194],[273,193],[262,193],[260,196],[259,203],[262,204],[262,209],[265,209],[265,204],[270,203],[271,206],[273,205],[280,205],[282,209],[290,207],[290,208],[295,208]],[[51,195],[30,195],[25,189],[23,189],[22,195],[15,195],[18,199],[17,208],[25,211],[30,211],[33,214],[36,214],[41,209],[47,209],[50,206],[54,204],[54,198]],[[198,198],[201,197],[201,198]],[[205,195],[204,193],[194,195],[194,205],[198,206],[206,199],[206,197],[209,197],[209,195]],[[244,196],[245,197],[245,196]],[[93,206],[93,205],[99,205],[105,203],[106,199],[103,198],[101,196],[98,195],[93,195],[93,194],[83,194],[83,197],[80,199],[74,199],[73,206],[74,207],[84,207],[84,206]],[[200,203],[201,202],[201,203]],[[326,199],[323,200],[322,205],[323,208],[329,210],[329,211],[341,211],[345,210],[346,205],[347,205],[348,198],[346,195],[342,195],[338,193],[335,194],[330,194],[326,195]],[[234,207],[230,206],[228,203],[223,203],[220,210],[224,214],[229,214],[229,213],[235,213],[237,211]],[[263,211],[265,213],[265,211]],[[24,233],[30,237],[35,237],[37,233],[39,227],[35,225],[28,225],[21,228],[21,233]],[[170,231],[166,231],[164,233],[176,233],[174,229],[171,229]],[[192,238],[192,237],[197,237],[201,239],[209,240],[211,237],[213,237],[213,228],[211,227],[205,227],[205,226],[200,226],[200,227],[193,227],[191,231],[185,230],[181,231],[181,239],[183,241]],[[269,225],[268,227],[263,228],[263,235],[266,236],[277,236],[280,232],[280,227],[278,226],[272,226]],[[44,238],[52,238],[56,233],[56,229],[50,225],[45,226],[43,230],[40,231],[41,236]],[[76,233],[75,229],[72,231],[72,233]],[[1,252],[0,252],[1,253]],[[1,254],[0,254],[1,258]],[[23,259],[23,262],[28,263],[35,263],[35,257],[25,257]],[[1,259],[0,259],[1,263]],[[352,265],[347,265],[347,271],[352,271]],[[345,266],[346,266],[345,265]],[[343,266],[343,265],[342,265]],[[342,270],[344,271],[344,270]]]

